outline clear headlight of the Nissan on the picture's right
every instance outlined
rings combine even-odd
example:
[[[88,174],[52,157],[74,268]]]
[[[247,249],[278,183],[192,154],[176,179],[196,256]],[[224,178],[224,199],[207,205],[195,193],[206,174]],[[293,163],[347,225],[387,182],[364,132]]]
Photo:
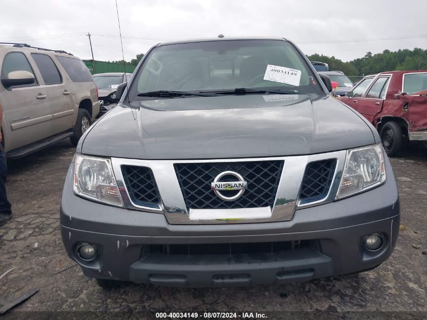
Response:
[[[374,188],[385,180],[384,155],[380,144],[347,150],[337,199]]]

